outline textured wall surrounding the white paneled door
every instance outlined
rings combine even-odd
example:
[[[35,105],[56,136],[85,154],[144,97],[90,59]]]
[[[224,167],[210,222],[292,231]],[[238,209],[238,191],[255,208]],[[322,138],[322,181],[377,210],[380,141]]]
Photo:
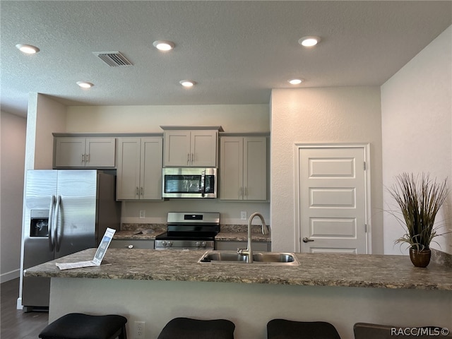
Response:
[[[271,100],[272,249],[294,251],[295,143],[370,143],[371,232],[383,251],[381,107],[378,87],[273,90]]]

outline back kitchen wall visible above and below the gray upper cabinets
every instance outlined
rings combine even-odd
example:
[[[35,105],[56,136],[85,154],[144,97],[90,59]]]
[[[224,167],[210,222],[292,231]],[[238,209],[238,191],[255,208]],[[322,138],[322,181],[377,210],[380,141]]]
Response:
[[[64,131],[97,133],[163,133],[160,126],[222,126],[226,133],[268,132],[268,105],[193,106],[74,106],[67,107]],[[146,217],[140,219],[140,210]],[[240,211],[262,213],[270,220],[269,203],[234,203],[219,199],[171,199],[169,201],[128,201],[123,203],[121,222],[166,222],[169,211],[201,210],[220,212],[222,224],[244,224]]]

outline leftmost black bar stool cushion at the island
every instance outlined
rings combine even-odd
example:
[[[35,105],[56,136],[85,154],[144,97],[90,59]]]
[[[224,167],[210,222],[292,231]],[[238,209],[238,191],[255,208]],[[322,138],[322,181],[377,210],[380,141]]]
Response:
[[[90,316],[70,313],[50,323],[39,337],[42,339],[126,339],[124,316]]]

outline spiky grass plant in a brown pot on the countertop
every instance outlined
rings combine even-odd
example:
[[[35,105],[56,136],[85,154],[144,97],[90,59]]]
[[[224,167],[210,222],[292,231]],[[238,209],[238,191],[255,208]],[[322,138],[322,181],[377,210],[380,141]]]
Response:
[[[434,237],[443,235],[437,233],[438,226],[434,225],[434,221],[448,194],[446,182],[447,179],[438,183],[425,173],[403,173],[396,177],[396,184],[388,189],[403,216],[396,218],[406,231],[395,242],[410,245],[410,259],[417,267],[427,267],[431,256],[430,242]]]

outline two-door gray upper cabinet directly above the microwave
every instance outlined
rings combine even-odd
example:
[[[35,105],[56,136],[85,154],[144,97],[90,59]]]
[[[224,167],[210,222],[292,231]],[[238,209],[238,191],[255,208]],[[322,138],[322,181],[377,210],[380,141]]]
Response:
[[[165,131],[165,167],[217,167],[218,130]]]

